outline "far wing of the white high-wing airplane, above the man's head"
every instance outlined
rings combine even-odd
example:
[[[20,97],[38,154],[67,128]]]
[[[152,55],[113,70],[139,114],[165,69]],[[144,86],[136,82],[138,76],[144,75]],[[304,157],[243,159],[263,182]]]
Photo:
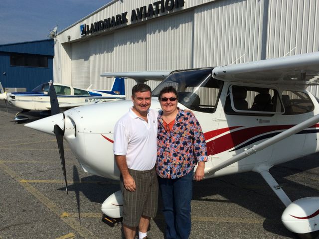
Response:
[[[146,81],[162,81],[172,71],[136,71],[136,72],[106,72],[102,73],[102,77],[123,77],[132,78],[138,83]]]

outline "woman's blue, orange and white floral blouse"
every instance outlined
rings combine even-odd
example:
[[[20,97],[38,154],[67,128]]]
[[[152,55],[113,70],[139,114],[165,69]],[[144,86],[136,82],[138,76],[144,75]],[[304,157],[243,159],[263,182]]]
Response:
[[[179,178],[189,173],[197,162],[208,161],[204,134],[191,112],[178,109],[172,131],[163,126],[159,114],[157,174],[161,178]]]

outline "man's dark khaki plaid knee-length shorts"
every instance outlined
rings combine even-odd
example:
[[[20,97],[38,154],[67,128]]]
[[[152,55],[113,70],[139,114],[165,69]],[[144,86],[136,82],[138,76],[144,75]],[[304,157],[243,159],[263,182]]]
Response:
[[[123,224],[128,227],[139,226],[142,216],[154,218],[158,211],[159,183],[155,167],[147,171],[129,169],[135,180],[136,190],[125,189],[121,176],[123,195]]]

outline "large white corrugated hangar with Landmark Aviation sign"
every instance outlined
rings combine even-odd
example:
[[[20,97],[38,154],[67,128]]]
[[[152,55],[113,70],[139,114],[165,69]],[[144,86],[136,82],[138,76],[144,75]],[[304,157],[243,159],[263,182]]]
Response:
[[[319,50],[319,0],[113,0],[58,33],[54,80],[109,89],[104,72],[175,70]],[[135,81],[126,80],[127,98]],[[151,88],[157,82],[149,82]],[[311,89],[317,96],[317,88]]]

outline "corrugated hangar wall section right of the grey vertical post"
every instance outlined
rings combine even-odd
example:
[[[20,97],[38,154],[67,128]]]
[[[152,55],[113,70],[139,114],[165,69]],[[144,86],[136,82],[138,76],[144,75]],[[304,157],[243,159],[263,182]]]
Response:
[[[319,50],[319,0],[269,0],[267,58]]]

